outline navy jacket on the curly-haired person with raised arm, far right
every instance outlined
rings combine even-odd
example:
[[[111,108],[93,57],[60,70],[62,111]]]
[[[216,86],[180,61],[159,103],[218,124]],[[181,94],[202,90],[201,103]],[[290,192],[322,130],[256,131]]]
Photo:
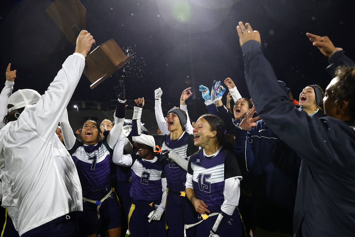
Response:
[[[295,236],[355,233],[355,126],[308,116],[284,95],[257,41],[242,46],[245,78],[256,110],[302,158],[294,210]]]

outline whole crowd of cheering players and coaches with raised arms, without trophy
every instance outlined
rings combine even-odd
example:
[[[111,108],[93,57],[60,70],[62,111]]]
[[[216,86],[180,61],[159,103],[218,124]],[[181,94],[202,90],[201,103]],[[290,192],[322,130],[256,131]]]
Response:
[[[66,107],[95,43],[85,30],[42,96],[30,89],[12,93],[16,70],[9,64],[0,95],[1,198],[7,215],[2,235],[354,233],[355,211],[348,207],[355,193],[339,185],[355,181],[354,163],[344,158],[355,155],[353,95],[342,97],[339,91],[354,88],[355,69],[337,68],[354,62],[332,43],[307,34],[322,53],[331,52],[331,73],[337,68],[337,76],[325,95],[319,85],[307,85],[295,106],[261,52],[260,34],[242,22],[237,32],[253,99],[243,98],[228,77],[231,109],[229,102],[223,105],[226,88],[220,81],[211,88],[200,85],[209,113],[192,126],[185,103],[191,87],[165,116],[159,88],[154,94],[158,135],[142,126],[144,97],[137,95],[133,116],[126,118],[119,80],[113,120],[88,119],[75,136]],[[337,136],[348,142],[339,144]],[[334,213],[348,217],[334,220]]]

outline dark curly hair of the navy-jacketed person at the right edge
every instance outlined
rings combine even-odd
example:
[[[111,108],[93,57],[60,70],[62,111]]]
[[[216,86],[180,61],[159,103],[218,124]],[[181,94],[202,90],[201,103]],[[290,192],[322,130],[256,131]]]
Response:
[[[351,118],[355,118],[355,66],[339,66],[335,76],[338,77],[338,82],[336,86],[332,86],[334,102],[348,102],[348,113]]]

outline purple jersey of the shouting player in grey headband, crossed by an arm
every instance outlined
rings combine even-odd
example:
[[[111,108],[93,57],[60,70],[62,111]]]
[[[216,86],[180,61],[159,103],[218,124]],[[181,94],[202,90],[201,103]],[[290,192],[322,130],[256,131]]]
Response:
[[[163,136],[165,137],[165,140],[161,145],[162,150],[173,150],[176,154],[186,159],[198,150],[198,147],[193,144],[194,137],[192,134],[184,132],[181,137],[176,140],[171,140],[170,134],[154,136],[155,144],[159,144],[160,139],[158,138],[162,138]],[[166,181],[168,182],[168,187],[169,183],[186,182],[187,172],[174,161],[169,161],[169,163],[165,165],[164,169]],[[169,188],[169,190],[170,189],[171,188]],[[174,191],[179,192],[181,190]]]

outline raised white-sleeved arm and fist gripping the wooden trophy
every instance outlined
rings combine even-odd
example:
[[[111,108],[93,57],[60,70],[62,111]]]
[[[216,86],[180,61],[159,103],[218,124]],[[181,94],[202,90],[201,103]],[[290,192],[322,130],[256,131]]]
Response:
[[[76,49],[62,65],[47,91],[34,106],[28,106],[19,117],[19,121],[34,127],[38,135],[48,140],[58,125],[59,118],[67,107],[80,80],[85,66],[85,56],[95,40],[82,30],[76,41]]]

